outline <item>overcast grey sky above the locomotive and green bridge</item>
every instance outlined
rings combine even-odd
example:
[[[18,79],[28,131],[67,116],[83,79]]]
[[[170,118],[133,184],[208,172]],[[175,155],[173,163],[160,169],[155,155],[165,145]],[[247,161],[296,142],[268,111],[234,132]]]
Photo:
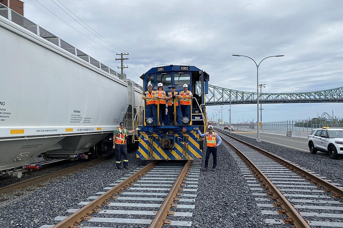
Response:
[[[75,29],[114,52],[52,1],[38,0]],[[308,92],[343,85],[343,1],[114,1],[59,0],[96,32],[130,53],[128,78],[157,64],[189,63],[210,74],[210,84],[256,92],[256,61],[262,92]],[[63,8],[66,10],[65,8]],[[67,10],[66,10],[67,11]],[[85,38],[35,0],[25,17],[116,69],[115,53]],[[141,68],[141,69],[140,69]],[[135,72],[134,72],[135,71]],[[342,104],[268,104],[263,121],[306,119],[326,111],[343,118]],[[209,106],[208,113],[219,106]],[[228,121],[228,106],[223,108]],[[210,114],[212,116],[212,114]],[[232,122],[256,121],[256,104],[233,105]]]

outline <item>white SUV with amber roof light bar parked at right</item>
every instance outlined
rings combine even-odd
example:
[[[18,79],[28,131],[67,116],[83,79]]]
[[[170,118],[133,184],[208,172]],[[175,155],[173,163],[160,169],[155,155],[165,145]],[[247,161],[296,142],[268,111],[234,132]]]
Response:
[[[330,158],[338,159],[343,155],[343,128],[315,129],[308,136],[310,153],[317,151],[329,153]]]

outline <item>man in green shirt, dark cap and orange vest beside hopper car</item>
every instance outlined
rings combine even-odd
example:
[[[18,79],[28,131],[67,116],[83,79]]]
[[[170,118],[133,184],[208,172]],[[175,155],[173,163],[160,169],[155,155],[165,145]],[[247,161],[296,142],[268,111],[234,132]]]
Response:
[[[123,155],[123,166],[124,169],[128,170],[129,160],[128,160],[128,152],[126,147],[126,137],[128,133],[132,133],[134,131],[138,131],[139,128],[136,128],[132,131],[129,131],[124,128],[124,123],[119,123],[119,128],[115,130],[113,133],[113,148],[116,150],[116,166],[118,170],[121,168],[121,155]]]

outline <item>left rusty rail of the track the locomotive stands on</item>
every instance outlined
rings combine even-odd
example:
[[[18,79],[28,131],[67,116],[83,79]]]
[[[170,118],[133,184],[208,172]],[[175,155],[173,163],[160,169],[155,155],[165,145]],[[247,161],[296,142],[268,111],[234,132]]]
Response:
[[[71,227],[74,227],[75,225],[78,225],[81,221],[88,221],[89,219],[92,218],[91,213],[99,212],[101,205],[107,205],[110,199],[117,198],[117,194],[119,192],[121,192],[123,189],[126,189],[130,185],[132,185],[133,182],[137,181],[142,175],[144,175],[150,169],[155,167],[156,164],[157,164],[157,161],[153,161],[147,164],[142,169],[132,174],[131,176],[129,176],[127,179],[123,180],[122,182],[118,183],[115,187],[111,188],[107,192],[105,192],[103,195],[99,196],[98,198],[91,201],[87,205],[81,207],[81,209],[77,210],[76,212],[71,214],[69,217],[63,219],[58,224],[54,225],[52,228],[71,228]]]

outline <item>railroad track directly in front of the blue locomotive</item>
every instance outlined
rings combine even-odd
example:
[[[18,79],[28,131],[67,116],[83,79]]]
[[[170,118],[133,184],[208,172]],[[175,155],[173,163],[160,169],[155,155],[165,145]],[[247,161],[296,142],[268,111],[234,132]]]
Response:
[[[153,161],[57,216],[67,227],[191,226],[201,161]],[[71,215],[70,215],[71,214]],[[176,218],[176,219],[175,219]]]

